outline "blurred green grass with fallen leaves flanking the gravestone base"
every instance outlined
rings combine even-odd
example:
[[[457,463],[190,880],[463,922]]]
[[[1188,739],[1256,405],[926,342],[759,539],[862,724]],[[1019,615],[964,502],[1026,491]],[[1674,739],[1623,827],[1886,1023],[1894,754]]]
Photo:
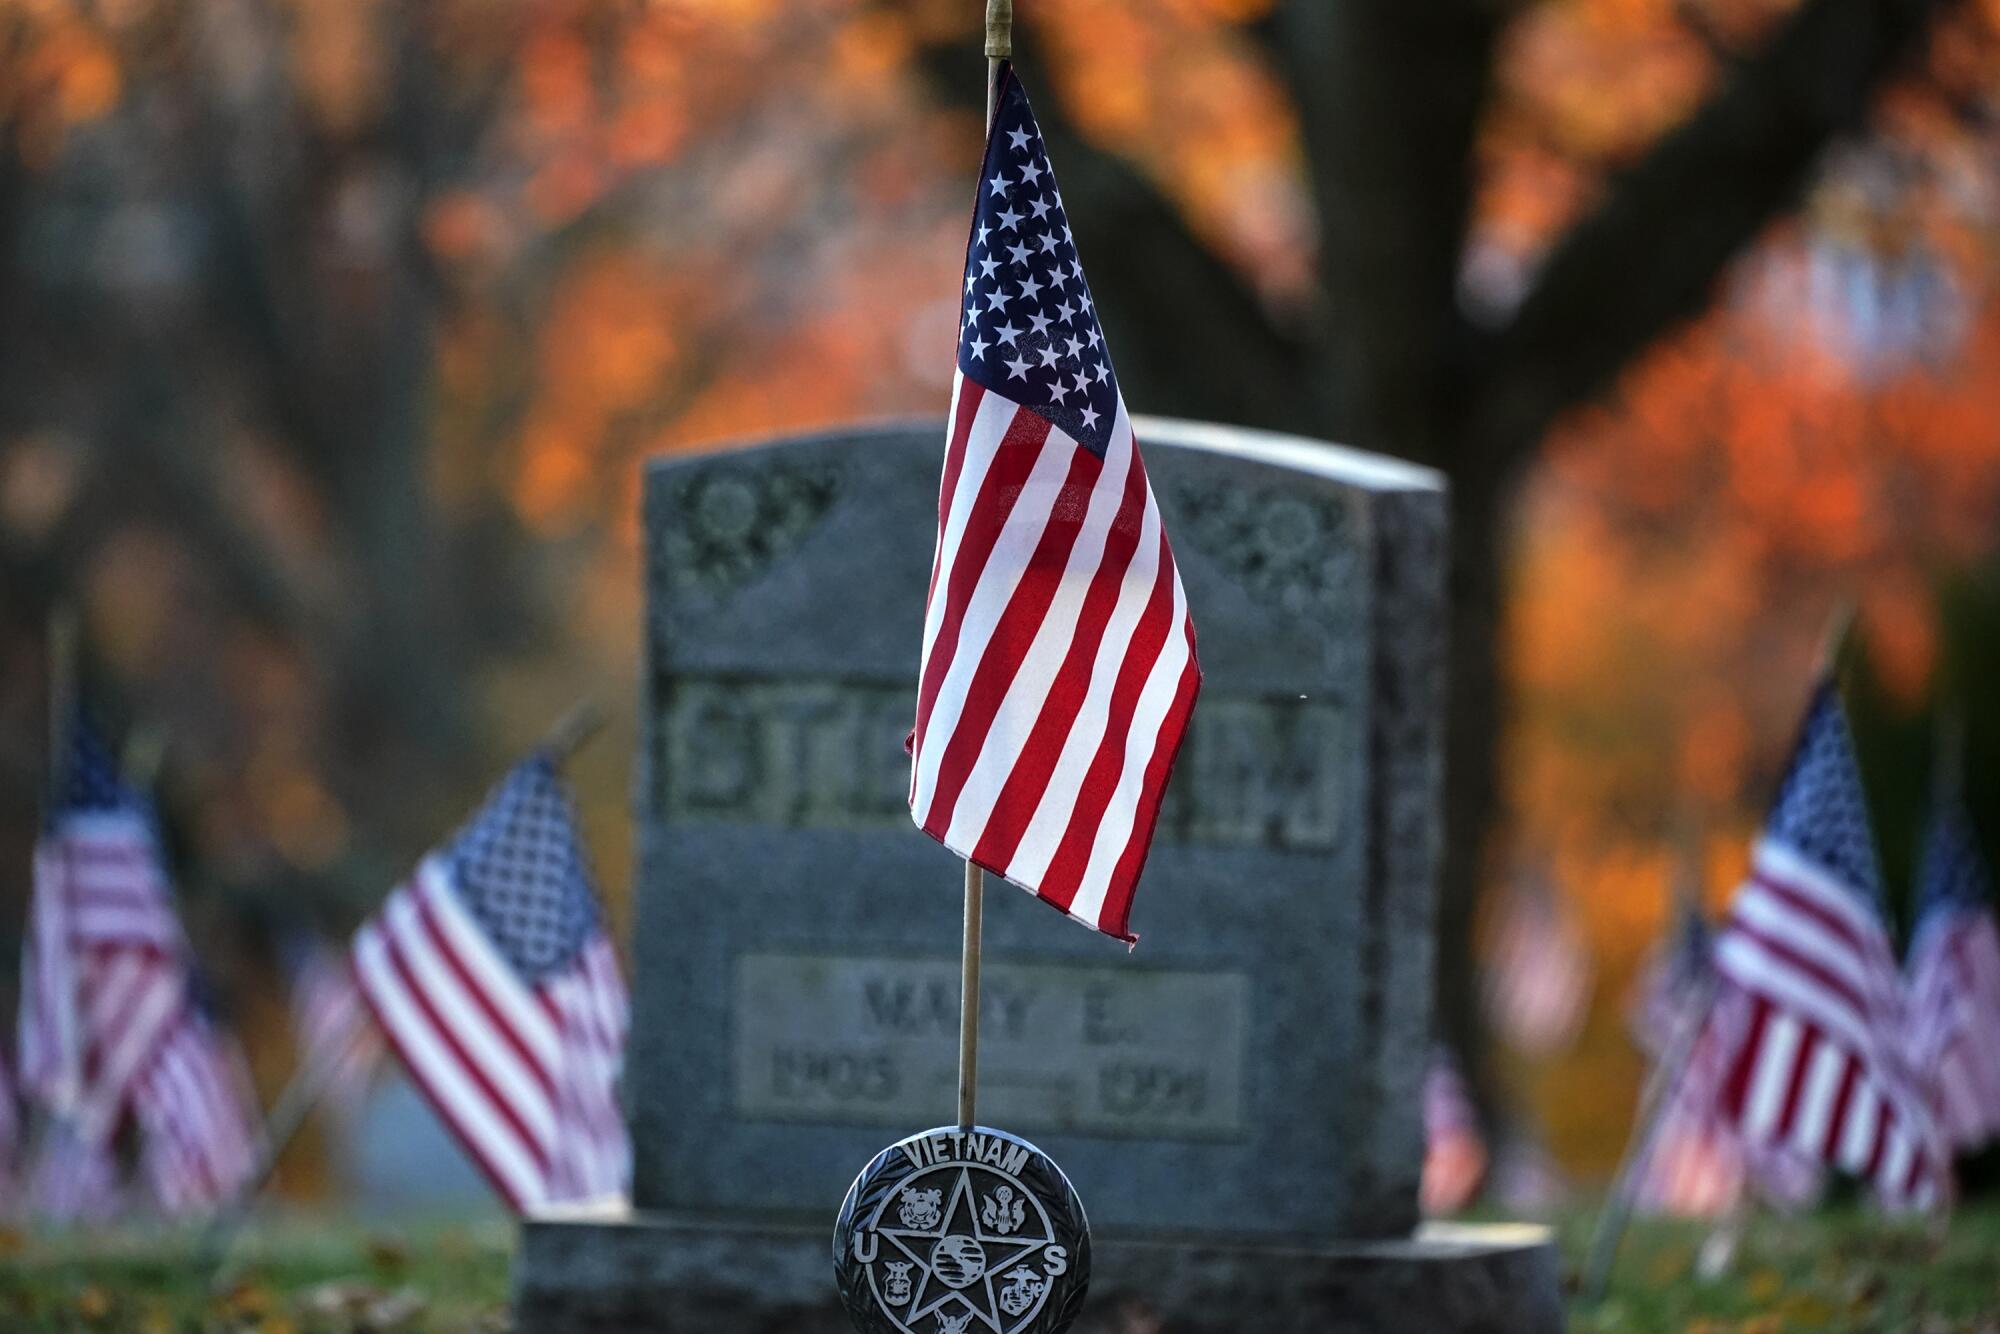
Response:
[[[1574,1268],[1588,1214],[1562,1224]],[[2000,1204],[1964,1208],[1948,1238],[1834,1210],[1762,1220],[1732,1274],[1688,1268],[1700,1226],[1640,1222],[1610,1298],[1574,1304],[1576,1334],[2000,1334]],[[196,1238],[116,1232],[94,1240],[0,1234],[0,1330],[134,1334],[498,1334],[508,1328],[504,1222],[362,1228],[260,1222],[234,1282],[210,1294]],[[1244,1334],[1256,1334],[1244,1330]]]

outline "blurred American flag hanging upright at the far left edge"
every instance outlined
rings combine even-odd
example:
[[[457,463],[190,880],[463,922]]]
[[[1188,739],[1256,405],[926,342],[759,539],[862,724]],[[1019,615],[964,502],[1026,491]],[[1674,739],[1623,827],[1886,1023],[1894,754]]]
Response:
[[[180,1020],[188,942],[150,806],[120,782],[82,710],[62,774],[34,854],[20,1074],[30,1100],[94,1146],[110,1140]]]

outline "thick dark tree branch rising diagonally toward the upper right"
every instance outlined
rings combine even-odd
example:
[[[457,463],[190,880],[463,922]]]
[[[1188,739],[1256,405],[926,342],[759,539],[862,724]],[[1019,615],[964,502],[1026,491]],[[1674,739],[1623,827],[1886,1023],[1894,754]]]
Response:
[[[1480,348],[1476,458],[1518,470],[1556,416],[1696,316],[1728,262],[1804,190],[1830,140],[1950,0],[1806,0],[1722,88],[1616,182]]]

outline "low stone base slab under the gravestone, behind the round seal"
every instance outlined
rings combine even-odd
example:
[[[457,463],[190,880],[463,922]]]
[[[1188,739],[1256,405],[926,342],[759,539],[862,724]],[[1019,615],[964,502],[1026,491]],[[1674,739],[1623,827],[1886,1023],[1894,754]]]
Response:
[[[562,1212],[522,1224],[522,1334],[850,1334],[832,1226]],[[1556,1334],[1556,1248],[1528,1224],[1428,1224],[1392,1242],[1248,1248],[1092,1242],[1072,1334]]]

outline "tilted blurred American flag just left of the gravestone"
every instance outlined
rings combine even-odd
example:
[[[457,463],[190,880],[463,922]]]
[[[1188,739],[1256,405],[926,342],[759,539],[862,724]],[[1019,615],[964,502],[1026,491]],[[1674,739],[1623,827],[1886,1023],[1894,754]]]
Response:
[[[354,938],[354,976],[514,1210],[624,1190],[626,990],[550,756],[516,766],[390,894]]]

